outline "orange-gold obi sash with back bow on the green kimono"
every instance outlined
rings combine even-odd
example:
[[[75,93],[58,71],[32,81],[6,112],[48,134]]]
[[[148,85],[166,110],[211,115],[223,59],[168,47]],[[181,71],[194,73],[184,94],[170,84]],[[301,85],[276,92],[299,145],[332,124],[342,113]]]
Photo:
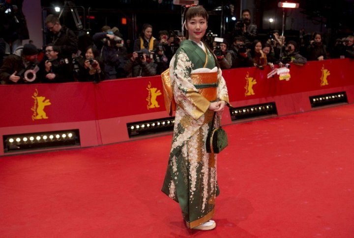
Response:
[[[169,115],[172,116],[173,111],[177,108],[177,104],[173,95],[170,70],[167,69],[164,71],[161,74],[161,78],[164,90],[165,108]],[[191,74],[191,78],[193,85],[203,97],[210,102],[216,101],[218,86],[217,72]]]

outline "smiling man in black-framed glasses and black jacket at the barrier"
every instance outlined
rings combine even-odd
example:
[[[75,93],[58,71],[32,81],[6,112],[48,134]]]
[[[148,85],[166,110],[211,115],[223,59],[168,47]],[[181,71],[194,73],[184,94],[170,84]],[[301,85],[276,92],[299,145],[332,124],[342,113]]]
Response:
[[[46,58],[44,64],[43,82],[72,82],[74,81],[72,60],[63,58],[60,48],[54,44],[48,44],[45,48]]]

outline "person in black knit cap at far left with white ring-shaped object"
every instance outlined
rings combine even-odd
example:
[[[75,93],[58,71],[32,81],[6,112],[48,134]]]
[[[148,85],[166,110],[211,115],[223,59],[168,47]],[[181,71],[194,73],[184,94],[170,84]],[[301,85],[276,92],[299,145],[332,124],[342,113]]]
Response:
[[[1,84],[29,83],[40,81],[37,76],[38,49],[32,44],[18,47],[0,67]],[[35,71],[33,71],[35,70]]]

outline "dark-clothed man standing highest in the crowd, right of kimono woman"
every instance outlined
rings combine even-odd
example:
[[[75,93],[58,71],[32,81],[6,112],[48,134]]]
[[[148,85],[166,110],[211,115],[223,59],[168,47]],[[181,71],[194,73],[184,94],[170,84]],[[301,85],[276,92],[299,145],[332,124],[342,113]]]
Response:
[[[251,12],[242,10],[242,18],[236,22],[235,35],[243,36],[246,43],[253,42],[257,37],[257,25],[251,23]]]

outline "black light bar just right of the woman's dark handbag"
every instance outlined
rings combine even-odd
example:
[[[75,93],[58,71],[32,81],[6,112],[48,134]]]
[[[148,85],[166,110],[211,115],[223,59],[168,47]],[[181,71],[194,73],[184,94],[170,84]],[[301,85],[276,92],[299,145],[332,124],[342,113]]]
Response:
[[[231,120],[277,114],[275,103],[230,108]]]

